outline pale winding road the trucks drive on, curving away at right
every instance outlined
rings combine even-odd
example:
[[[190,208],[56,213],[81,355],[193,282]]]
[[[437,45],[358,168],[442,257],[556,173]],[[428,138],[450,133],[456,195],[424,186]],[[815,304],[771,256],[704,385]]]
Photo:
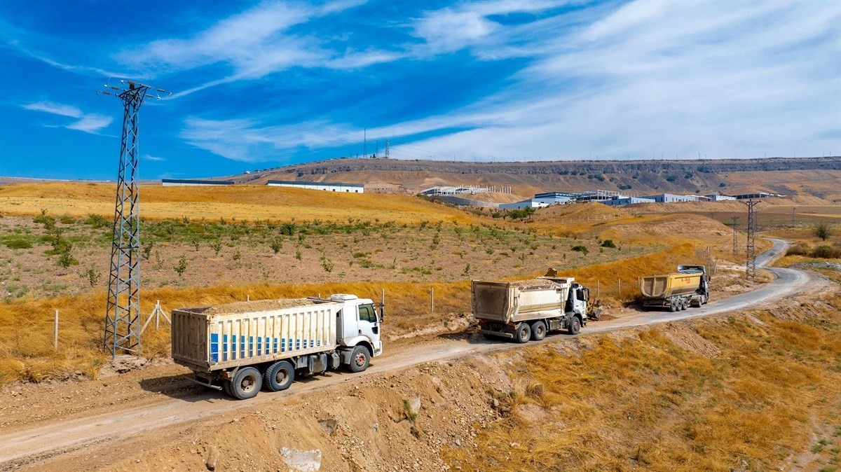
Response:
[[[785,254],[787,243],[771,239],[774,245],[757,258],[758,266],[765,266]],[[714,313],[731,312],[755,307],[760,303],[773,302],[785,296],[809,288],[817,277],[792,269],[768,268],[776,275],[775,281],[759,288],[727,299],[710,302],[703,307],[690,308],[682,312],[639,312],[610,321],[590,323],[579,336],[605,333],[618,329],[632,328],[654,323],[706,317]],[[542,343],[569,338],[569,335],[550,336]],[[530,343],[534,344],[534,343]],[[473,354],[484,354],[505,349],[516,349],[518,344],[484,340],[478,336],[453,338],[437,337],[429,343],[398,349],[375,359],[371,367],[360,374],[328,373],[317,381],[296,382],[289,391],[278,393],[262,392],[249,401],[233,401],[221,392],[201,387],[188,388],[185,396],[173,397],[157,394],[151,402],[133,406],[126,402],[119,410],[82,412],[76,416],[57,417],[35,421],[19,426],[4,427],[0,432],[0,469],[16,469],[21,465],[35,465],[46,459],[60,457],[89,446],[119,444],[119,440],[155,433],[162,427],[174,424],[214,421],[212,417],[223,412],[254,409],[267,401],[278,401],[278,396],[297,397],[304,392],[328,388],[345,382],[353,382],[363,375],[377,375],[402,370],[415,364],[445,359],[458,359]],[[178,380],[175,380],[178,381]],[[119,400],[119,399],[118,399]]]

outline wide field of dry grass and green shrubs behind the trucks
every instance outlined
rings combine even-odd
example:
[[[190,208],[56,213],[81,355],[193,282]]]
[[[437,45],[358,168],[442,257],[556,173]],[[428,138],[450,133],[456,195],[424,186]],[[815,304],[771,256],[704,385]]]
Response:
[[[537,212],[530,222],[511,222],[414,197],[331,194],[257,186],[221,189],[148,186],[141,192],[143,217],[155,227],[152,234],[156,250],[150,252],[161,260],[160,269],[144,273],[141,305],[144,316],[151,312],[155,300],[161,300],[165,309],[171,310],[241,301],[246,296],[257,300],[346,292],[378,298],[380,290],[384,289],[389,332],[410,333],[428,324],[446,323],[453,314],[469,312],[471,278],[525,278],[542,275],[545,267],[553,266],[563,275],[574,276],[590,286],[606,302],[619,306],[637,295],[637,276],[670,272],[681,263],[705,263],[706,256],[701,251],[706,247],[711,247],[713,254],[726,256],[730,242],[728,228],[708,218],[633,217],[595,204],[547,208]],[[66,218],[59,218],[56,226],[64,228],[66,236],[84,248],[83,255],[87,259],[79,265],[84,270],[92,258],[96,259],[96,264],[107,263],[107,247],[97,252],[98,249],[90,244],[108,246],[109,241],[106,237],[108,224],[101,231],[97,230],[102,234],[90,233],[82,217],[93,213],[108,218],[113,198],[113,188],[106,185],[3,186],[0,187],[0,212],[31,217],[48,209],[50,215],[66,215]],[[21,219],[5,219],[14,218]],[[78,218],[77,221],[73,221],[74,218]],[[283,242],[287,246],[283,254],[272,256],[267,238],[272,231],[278,231],[278,226],[272,225],[278,221],[291,223],[293,218],[298,229],[284,236]],[[586,218],[592,219],[587,221]],[[250,223],[241,221],[246,219]],[[96,223],[96,218],[93,220]],[[436,222],[442,222],[442,225]],[[3,223],[3,228],[6,224]],[[338,224],[344,226],[336,226]],[[3,248],[8,254],[0,253],[0,283],[8,288],[6,284],[24,283],[24,278],[34,274],[36,278],[61,282],[61,285],[50,286],[50,291],[4,294],[5,300],[0,303],[0,384],[21,379],[66,378],[75,372],[95,376],[104,360],[100,350],[104,277],[99,280],[102,289],[92,290],[85,286],[83,275],[67,270],[54,273],[54,261],[42,255],[49,252],[44,250],[49,249],[46,247],[49,241],[45,239],[49,235],[39,233],[41,230],[36,226],[24,224],[13,228],[14,231],[24,228],[15,233],[15,238],[26,239],[33,246],[31,249]],[[350,227],[356,229],[348,229]],[[225,233],[216,234],[220,228]],[[353,234],[357,229],[362,233]],[[345,235],[346,231],[351,233]],[[198,267],[198,274],[230,273],[229,279],[237,280],[191,279],[189,274],[186,278],[178,275],[174,280],[176,275],[172,266],[176,265],[178,255],[193,254],[193,251],[201,254],[200,251],[209,250],[206,248],[216,236],[223,253],[235,251],[232,259],[207,257],[213,267],[204,267],[191,256],[189,265],[195,265],[192,270]],[[321,240],[322,237],[325,239]],[[149,235],[145,238],[141,240],[148,243]],[[412,249],[417,254],[400,256],[394,253],[388,260],[377,259],[381,252],[385,254],[393,249],[389,249],[389,241],[400,239],[411,239],[411,244],[417,245],[416,250]],[[611,239],[616,247],[605,246],[606,239]],[[251,254],[251,249],[240,246],[246,244],[245,241],[262,249],[255,249],[257,252]],[[3,242],[8,243],[7,239],[0,241]],[[411,244],[404,245],[410,247]],[[194,249],[188,249],[193,246]],[[241,250],[237,249],[240,247]],[[441,248],[445,247],[450,249],[442,253]],[[572,250],[574,247],[582,249]],[[294,254],[293,248],[298,249],[300,257]],[[237,254],[242,259],[235,257]],[[316,261],[319,254],[320,260]],[[217,251],[216,256],[219,255]],[[429,265],[412,262],[415,259]],[[22,265],[21,261],[26,263]],[[152,265],[151,256],[148,262]],[[322,269],[327,262],[336,264],[335,272],[332,266],[331,270]],[[361,270],[359,266],[363,262],[365,267]],[[422,265],[420,279],[412,276],[412,264]],[[405,274],[403,267],[398,265],[406,265]],[[261,275],[267,267],[271,267],[273,273],[296,274],[301,272],[299,266],[315,267],[319,275],[299,281]],[[104,273],[103,267],[92,267],[94,272],[100,267]],[[439,271],[438,267],[442,269]],[[241,271],[237,272],[237,268]],[[8,270],[12,272],[7,273]],[[75,277],[75,282],[68,279],[71,276]],[[76,284],[76,289],[68,290],[66,287],[74,286],[72,284]],[[434,314],[430,309],[432,288],[436,294]],[[61,318],[58,349],[52,346],[55,310],[60,311]],[[168,344],[167,328],[144,333],[143,349],[147,356],[166,356]]]

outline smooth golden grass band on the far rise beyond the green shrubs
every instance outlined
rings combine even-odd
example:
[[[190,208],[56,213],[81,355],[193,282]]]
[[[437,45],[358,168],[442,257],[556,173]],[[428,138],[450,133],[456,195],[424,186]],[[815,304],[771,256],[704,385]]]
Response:
[[[34,215],[46,208],[52,214],[83,217],[114,214],[114,186],[50,183],[0,187],[0,211]],[[480,218],[442,204],[415,197],[352,194],[275,186],[140,186],[143,218],[220,218],[237,220],[296,219],[346,222],[394,221],[418,223],[477,223]]]

